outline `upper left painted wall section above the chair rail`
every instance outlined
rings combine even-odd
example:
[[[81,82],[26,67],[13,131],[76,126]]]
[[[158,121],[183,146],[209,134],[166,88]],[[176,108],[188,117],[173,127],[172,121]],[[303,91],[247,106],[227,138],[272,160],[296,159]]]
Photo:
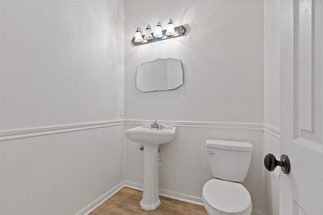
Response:
[[[122,119],[124,3],[1,2],[1,129]]]

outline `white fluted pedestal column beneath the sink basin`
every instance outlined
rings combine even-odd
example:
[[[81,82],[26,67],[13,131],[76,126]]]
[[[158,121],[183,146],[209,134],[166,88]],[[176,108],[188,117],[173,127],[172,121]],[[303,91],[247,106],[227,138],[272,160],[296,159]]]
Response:
[[[140,207],[155,210],[160,205],[158,195],[158,146],[144,146],[143,195]]]

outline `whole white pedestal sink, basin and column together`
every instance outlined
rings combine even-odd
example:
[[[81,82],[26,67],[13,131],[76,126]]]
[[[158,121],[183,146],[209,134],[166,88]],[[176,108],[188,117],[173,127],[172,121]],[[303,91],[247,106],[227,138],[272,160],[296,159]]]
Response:
[[[161,130],[150,129],[150,125],[142,125],[125,130],[126,136],[144,145],[143,195],[140,207],[144,210],[155,210],[160,205],[158,196],[158,146],[175,139],[176,127],[161,125]]]

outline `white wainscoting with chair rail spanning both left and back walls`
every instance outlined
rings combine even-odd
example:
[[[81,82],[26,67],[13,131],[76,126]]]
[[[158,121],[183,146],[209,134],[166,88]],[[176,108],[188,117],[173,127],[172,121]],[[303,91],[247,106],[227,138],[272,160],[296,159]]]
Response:
[[[86,214],[124,186],[141,189],[140,144],[124,130],[147,120],[64,125],[1,133],[1,214]],[[177,137],[160,146],[159,194],[201,205],[211,177],[208,138],[249,141],[251,166],[244,186],[252,214],[263,214],[263,126],[248,123],[160,121]]]

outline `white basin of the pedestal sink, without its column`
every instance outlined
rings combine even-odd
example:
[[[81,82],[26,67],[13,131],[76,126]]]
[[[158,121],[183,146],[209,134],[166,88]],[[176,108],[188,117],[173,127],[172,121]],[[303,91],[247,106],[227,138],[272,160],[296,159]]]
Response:
[[[158,146],[167,144],[175,139],[176,127],[161,125],[161,130],[150,129],[150,125],[142,125],[125,130],[126,136],[139,144],[146,146]]]

